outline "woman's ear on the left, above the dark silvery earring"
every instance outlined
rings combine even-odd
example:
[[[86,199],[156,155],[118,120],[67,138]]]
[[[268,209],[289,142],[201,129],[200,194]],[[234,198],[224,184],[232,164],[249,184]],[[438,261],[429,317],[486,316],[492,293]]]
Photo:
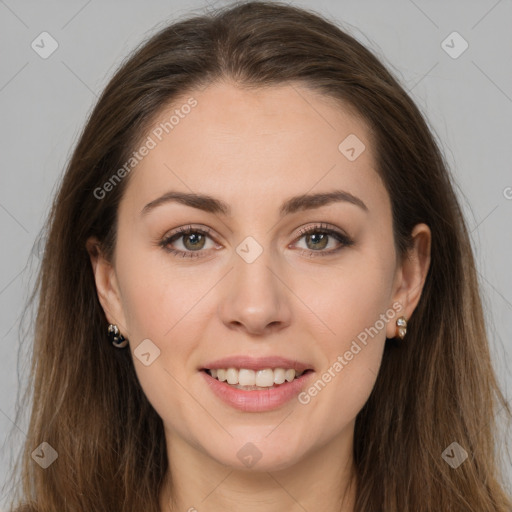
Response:
[[[127,338],[125,315],[115,269],[102,254],[100,243],[96,237],[90,237],[87,240],[86,249],[92,264],[98,299],[107,321],[116,324],[121,334]]]

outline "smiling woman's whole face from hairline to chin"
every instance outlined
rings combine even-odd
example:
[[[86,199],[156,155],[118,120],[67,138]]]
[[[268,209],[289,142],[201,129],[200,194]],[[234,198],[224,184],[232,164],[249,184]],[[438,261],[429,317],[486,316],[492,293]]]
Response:
[[[305,87],[218,83],[162,111],[146,134],[155,144],[120,204],[113,265],[99,260],[95,275],[176,446],[238,468],[261,457],[258,468],[275,470],[351,435],[386,336],[415,306],[408,287],[421,281],[399,264],[368,133]],[[170,192],[225,211],[197,198],[155,202]],[[256,370],[295,363],[308,371],[267,390],[203,371],[279,379]]]

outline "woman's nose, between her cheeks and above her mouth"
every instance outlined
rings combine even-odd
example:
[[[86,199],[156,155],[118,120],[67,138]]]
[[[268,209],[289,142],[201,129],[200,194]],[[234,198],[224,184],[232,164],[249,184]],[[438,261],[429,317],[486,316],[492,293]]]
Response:
[[[263,251],[254,261],[236,254],[226,276],[218,314],[232,330],[268,335],[290,325],[292,311],[284,266]]]

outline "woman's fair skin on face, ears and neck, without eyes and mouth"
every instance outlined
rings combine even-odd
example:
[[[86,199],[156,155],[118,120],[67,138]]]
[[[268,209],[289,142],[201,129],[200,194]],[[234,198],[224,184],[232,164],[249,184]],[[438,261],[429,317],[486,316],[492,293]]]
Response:
[[[244,90],[220,82],[193,97],[197,106],[132,171],[112,264],[88,241],[106,317],[130,340],[140,384],[165,426],[175,505],[168,479],[161,509],[351,512],[355,418],[386,337],[396,336],[396,318],[410,318],[420,298],[430,230],[417,225],[409,257],[398,257],[390,199],[367,126],[352,110],[299,85]],[[366,145],[352,162],[338,150],[349,134]],[[337,202],[278,217],[287,198],[333,189],[359,197],[368,211]],[[167,203],[141,216],[169,190],[220,198],[233,215]],[[319,256],[340,243],[298,234],[318,223],[354,244]],[[158,246],[188,224],[210,228],[210,238],[182,236],[172,245],[202,257],[174,257]],[[263,248],[250,264],[236,252],[247,236]],[[221,402],[198,372],[229,355],[281,355],[309,363],[314,383],[397,301],[399,314],[308,404],[292,399],[274,411],[242,412]],[[149,366],[133,355],[144,339],[160,350]],[[250,468],[237,457],[248,442],[262,454]]]

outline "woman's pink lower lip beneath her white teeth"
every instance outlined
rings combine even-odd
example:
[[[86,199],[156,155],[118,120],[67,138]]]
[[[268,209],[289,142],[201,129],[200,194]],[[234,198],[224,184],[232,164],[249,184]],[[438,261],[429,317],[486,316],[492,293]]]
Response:
[[[206,371],[201,371],[210,389],[226,404],[244,412],[263,412],[278,409],[305,387],[312,371],[303,373],[291,382],[285,381],[276,388],[262,389],[261,391],[246,391],[237,389],[226,382],[214,379]]]

